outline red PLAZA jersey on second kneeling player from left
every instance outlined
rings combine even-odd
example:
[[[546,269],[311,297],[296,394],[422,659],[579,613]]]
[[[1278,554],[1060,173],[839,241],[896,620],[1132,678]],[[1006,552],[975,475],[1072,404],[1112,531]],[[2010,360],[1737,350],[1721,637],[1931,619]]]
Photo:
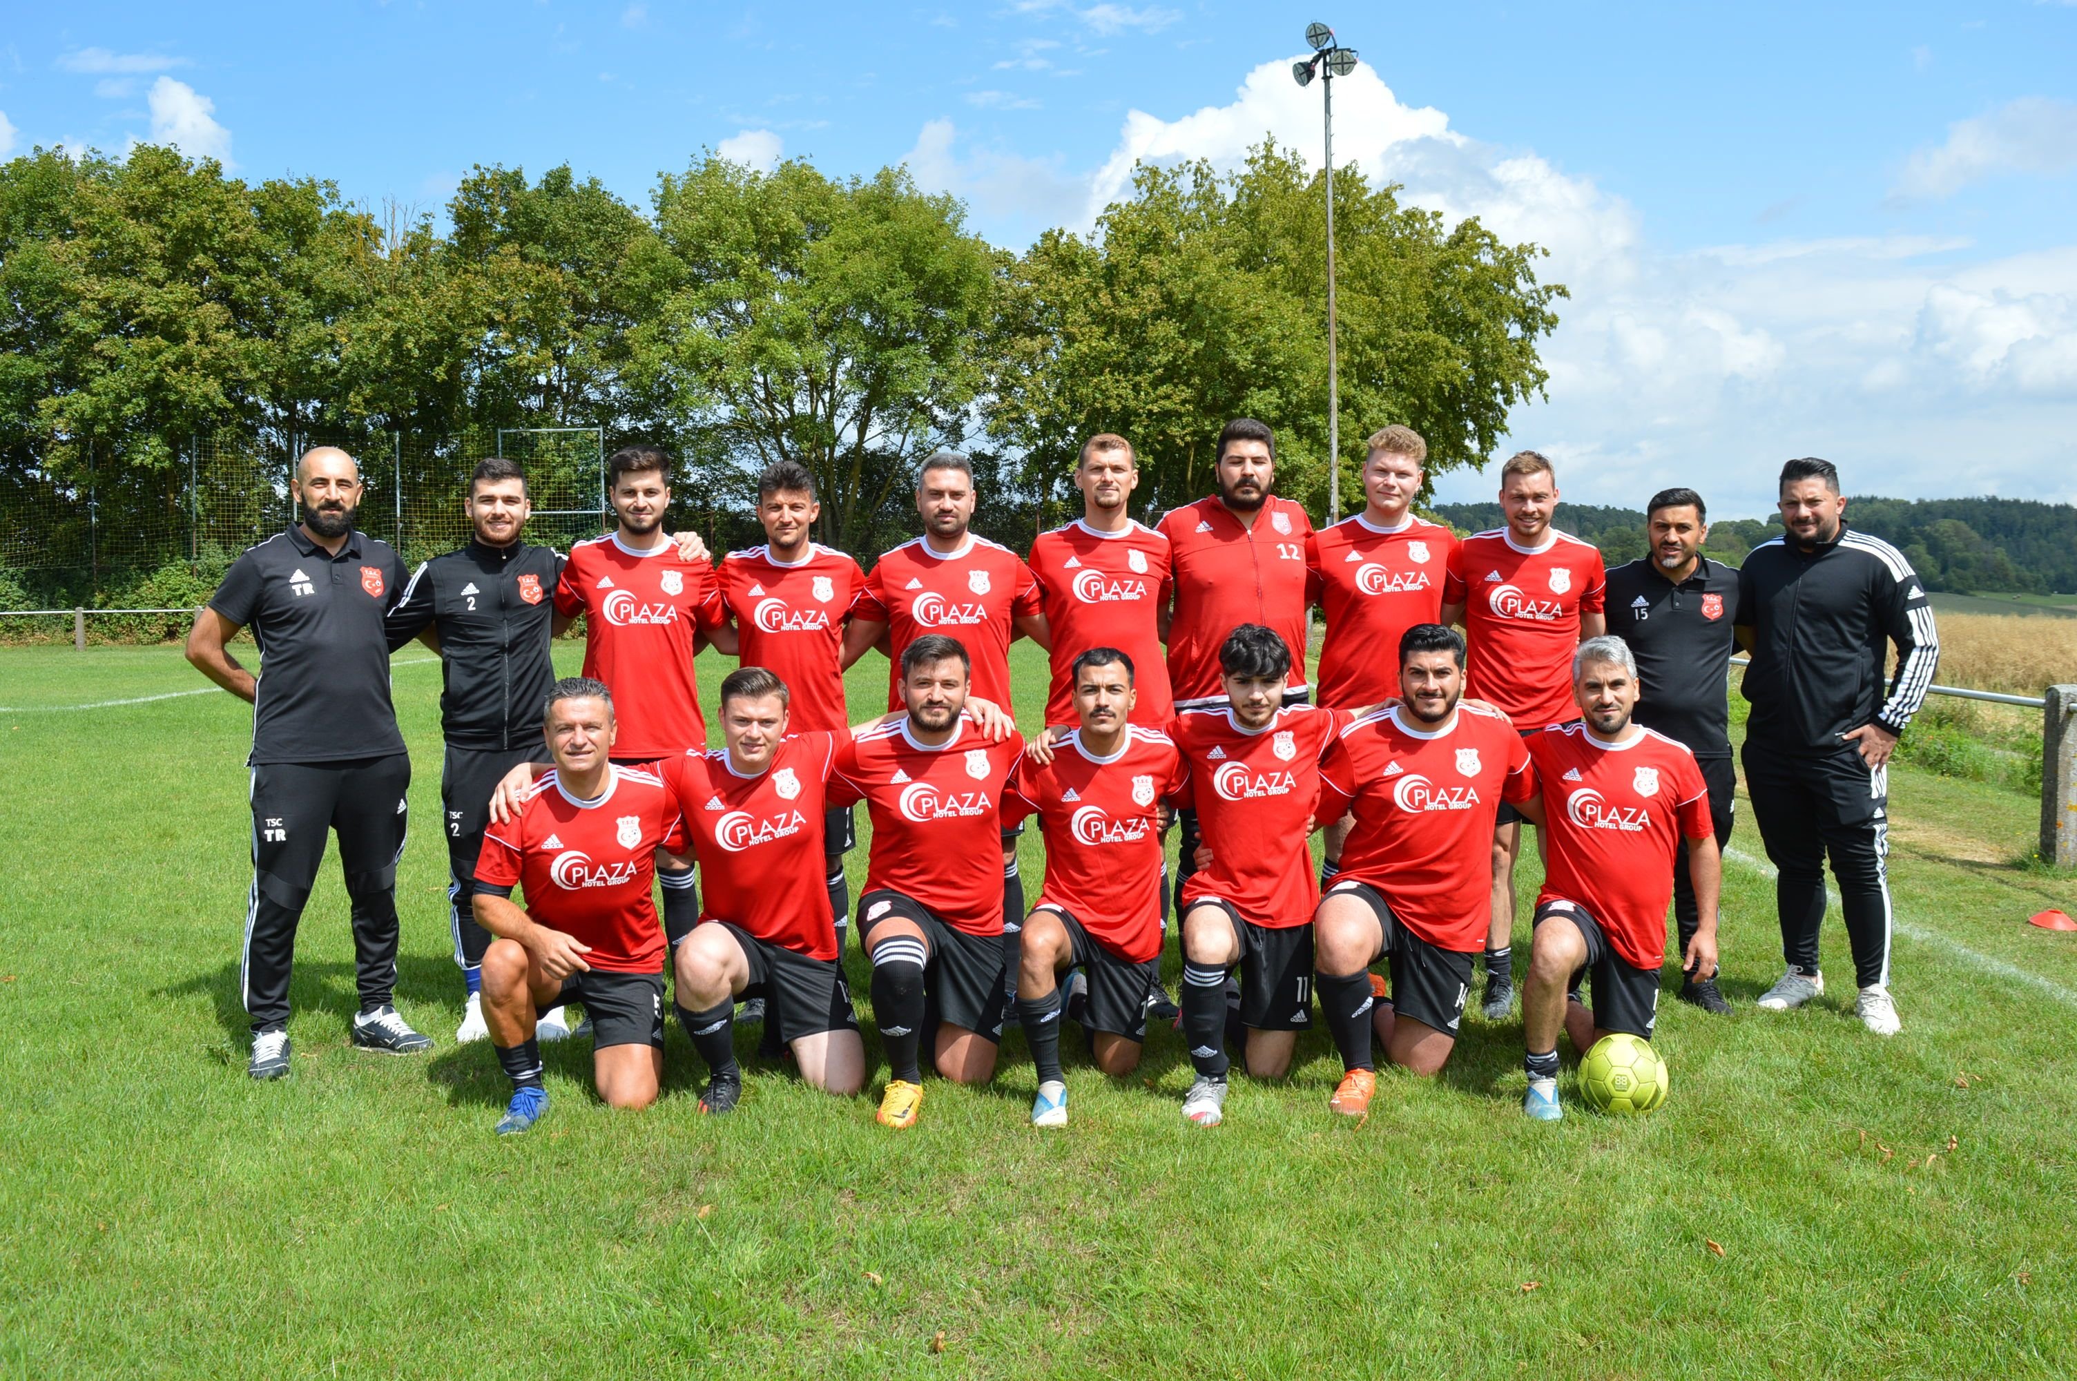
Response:
[[[837,957],[822,887],[822,797],[837,737],[800,733],[741,777],[729,752],[665,758],[663,779],[700,858],[700,920],[727,920],[810,959]]]

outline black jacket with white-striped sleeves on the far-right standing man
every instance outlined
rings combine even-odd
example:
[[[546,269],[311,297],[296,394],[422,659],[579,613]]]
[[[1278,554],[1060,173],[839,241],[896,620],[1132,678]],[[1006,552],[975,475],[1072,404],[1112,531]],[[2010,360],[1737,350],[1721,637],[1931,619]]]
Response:
[[[1838,752],[1840,735],[1867,723],[1900,735],[1940,662],[1911,563],[1844,523],[1809,552],[1788,538],[1755,546],[1738,569],[1738,625],[1753,629],[1747,733],[1784,752]],[[1884,685],[1892,642],[1896,675]]]

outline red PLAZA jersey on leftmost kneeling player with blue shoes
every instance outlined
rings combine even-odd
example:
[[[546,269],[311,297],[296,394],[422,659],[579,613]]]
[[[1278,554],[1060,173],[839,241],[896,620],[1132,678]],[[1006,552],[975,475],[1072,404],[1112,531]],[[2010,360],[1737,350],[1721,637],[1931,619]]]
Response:
[[[683,851],[685,827],[660,777],[633,766],[609,773],[596,802],[569,795],[557,773],[542,775],[511,822],[484,831],[476,881],[523,891],[534,924],[590,945],[592,968],[660,974],[665,939],[650,883],[656,847]]]

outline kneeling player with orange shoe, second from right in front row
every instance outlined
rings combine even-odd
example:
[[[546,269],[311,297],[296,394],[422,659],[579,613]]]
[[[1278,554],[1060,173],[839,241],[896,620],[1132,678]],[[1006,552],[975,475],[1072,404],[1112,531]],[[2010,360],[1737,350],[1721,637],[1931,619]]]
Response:
[[[1522,737],[1462,694],[1464,638],[1410,627],[1400,704],[1348,725],[1319,764],[1321,818],[1356,818],[1315,922],[1319,1005],[1346,1069],[1329,1107],[1346,1117],[1369,1115],[1377,1092],[1373,1026],[1414,1074],[1450,1059],[1485,939],[1493,816],[1502,802],[1537,810]],[[1387,1003],[1367,972],[1379,955],[1392,959]]]

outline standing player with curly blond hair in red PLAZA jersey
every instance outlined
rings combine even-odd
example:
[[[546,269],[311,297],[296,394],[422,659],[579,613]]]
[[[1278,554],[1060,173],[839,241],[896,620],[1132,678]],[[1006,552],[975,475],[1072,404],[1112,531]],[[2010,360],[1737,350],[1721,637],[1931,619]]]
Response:
[[[1319,704],[1352,710],[1400,694],[1400,638],[1441,617],[1456,534],[1414,517],[1427,440],[1387,426],[1367,442],[1363,513],[1306,538],[1306,600],[1327,615],[1319,648]],[[1319,885],[1333,883],[1348,820],[1327,827]]]

